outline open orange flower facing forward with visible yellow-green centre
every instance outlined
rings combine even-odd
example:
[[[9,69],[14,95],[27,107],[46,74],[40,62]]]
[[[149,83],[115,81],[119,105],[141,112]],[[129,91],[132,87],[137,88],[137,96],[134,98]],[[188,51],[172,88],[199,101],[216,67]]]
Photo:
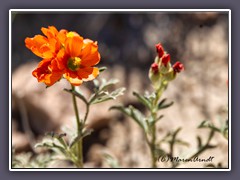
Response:
[[[60,68],[64,67],[64,77],[75,86],[82,81],[95,79],[99,70],[95,66],[100,61],[97,42],[83,39],[76,32],[69,32],[64,44],[65,50],[59,53]]]

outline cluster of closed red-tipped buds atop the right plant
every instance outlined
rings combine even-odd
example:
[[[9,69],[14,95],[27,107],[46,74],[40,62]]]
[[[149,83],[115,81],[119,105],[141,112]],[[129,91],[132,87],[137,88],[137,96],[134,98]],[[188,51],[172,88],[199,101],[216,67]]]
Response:
[[[184,70],[184,66],[180,62],[171,65],[170,54],[164,51],[160,43],[156,44],[157,56],[149,70],[149,78],[151,79],[155,89],[159,89],[163,84],[167,85],[169,81],[175,79],[177,73]]]

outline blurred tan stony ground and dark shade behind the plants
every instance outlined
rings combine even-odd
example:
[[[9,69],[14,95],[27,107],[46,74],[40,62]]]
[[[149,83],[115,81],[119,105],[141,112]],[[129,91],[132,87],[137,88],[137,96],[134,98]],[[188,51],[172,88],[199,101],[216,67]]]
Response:
[[[163,97],[174,101],[164,110],[158,123],[158,137],[182,127],[179,134],[189,147],[179,147],[177,154],[196,150],[196,136],[207,138],[207,130],[198,130],[203,120],[220,126],[228,107],[228,13],[227,12],[13,12],[12,14],[12,144],[17,153],[36,152],[34,143],[46,132],[61,132],[62,125],[72,125],[74,112],[71,96],[60,81],[45,89],[31,75],[40,58],[25,47],[24,39],[41,33],[41,27],[76,31],[84,38],[98,41],[101,62],[107,66],[101,78],[116,78],[117,87],[126,87],[116,101],[94,105],[88,119],[94,129],[84,142],[86,167],[108,167],[102,152],[119,160],[122,167],[148,167],[148,148],[138,125],[119,112],[108,111],[116,104],[133,104],[146,110],[132,95],[133,91],[152,91],[148,70],[156,56],[155,44],[161,43],[171,55],[171,63],[181,61],[185,71],[172,81]],[[80,89],[89,96],[91,83]],[[84,105],[79,102],[84,114]],[[228,143],[216,135],[218,148],[203,154],[215,156],[214,162],[228,165]],[[166,165],[159,163],[159,167]],[[66,167],[57,163],[55,166]],[[182,167],[204,167],[204,163]]]

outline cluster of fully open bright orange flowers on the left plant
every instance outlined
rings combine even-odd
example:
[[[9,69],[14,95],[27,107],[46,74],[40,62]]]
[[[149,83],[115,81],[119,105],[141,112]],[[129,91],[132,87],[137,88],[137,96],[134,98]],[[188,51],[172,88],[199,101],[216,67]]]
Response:
[[[79,86],[98,76],[99,70],[94,67],[100,61],[97,42],[73,31],[58,31],[54,26],[41,28],[41,31],[45,36],[25,39],[26,47],[42,58],[32,72],[38,82],[51,86],[64,77]]]

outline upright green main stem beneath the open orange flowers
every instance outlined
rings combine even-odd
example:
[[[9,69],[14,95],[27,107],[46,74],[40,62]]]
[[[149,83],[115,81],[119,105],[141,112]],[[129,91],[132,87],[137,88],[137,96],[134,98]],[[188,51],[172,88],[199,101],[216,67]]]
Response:
[[[72,85],[72,91],[75,90],[75,86]],[[77,100],[76,96],[72,94],[72,99],[73,99],[73,107],[76,115],[76,122],[77,122],[77,134],[81,135],[82,134],[82,124],[80,122],[79,118],[79,113],[78,113],[78,108],[77,108]],[[83,152],[82,152],[82,138],[78,141],[77,143],[77,157],[78,157],[78,163],[75,165],[79,168],[83,168]]]

